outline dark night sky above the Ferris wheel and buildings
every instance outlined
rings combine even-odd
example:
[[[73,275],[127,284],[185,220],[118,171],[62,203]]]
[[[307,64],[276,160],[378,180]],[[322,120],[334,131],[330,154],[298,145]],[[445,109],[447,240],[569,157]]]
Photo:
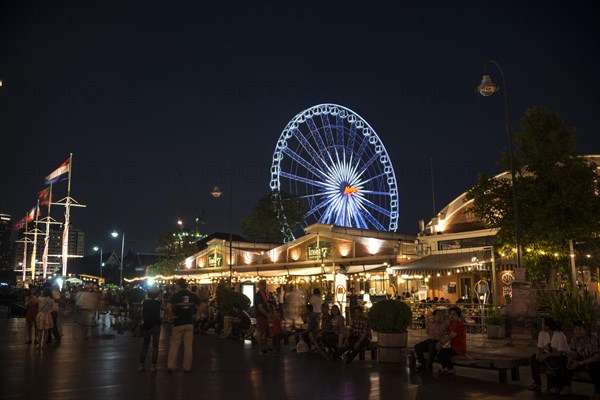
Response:
[[[228,231],[227,198],[209,194],[224,178],[241,233],[269,192],[282,129],[333,102],[385,144],[399,231],[416,233],[433,212],[430,163],[437,210],[498,172],[502,96],[473,91],[490,58],[515,130],[543,105],[577,128],[580,153],[600,152],[598,8],[503,3],[4,1],[0,213],[24,215],[72,152],[72,195],[87,208],[71,219],[89,248],[117,249],[118,229],[152,251],[178,216],[193,227],[203,210],[203,232]]]

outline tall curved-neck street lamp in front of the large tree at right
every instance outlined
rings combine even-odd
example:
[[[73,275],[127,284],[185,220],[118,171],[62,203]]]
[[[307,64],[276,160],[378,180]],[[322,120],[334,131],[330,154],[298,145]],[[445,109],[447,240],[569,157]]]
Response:
[[[510,177],[512,181],[512,200],[513,200],[513,209],[514,209],[514,217],[515,217],[515,245],[517,247],[517,271],[521,271],[521,222],[519,219],[519,203],[517,201],[517,177],[515,173],[515,162],[514,162],[514,150],[513,150],[513,136],[512,136],[512,128],[510,126],[510,119],[508,117],[508,93],[506,91],[506,79],[504,78],[504,71],[500,68],[500,65],[494,60],[488,60],[483,65],[483,78],[481,79],[481,84],[477,86],[475,91],[482,96],[488,97],[496,93],[500,90],[500,86],[492,82],[492,79],[487,73],[488,64],[494,64],[498,71],[500,71],[500,76],[502,77],[502,89],[503,89],[503,97],[504,97],[504,126],[506,129],[506,136],[508,138],[508,155],[510,160]],[[492,254],[493,257],[493,254]],[[494,288],[494,293],[496,292],[496,288]]]

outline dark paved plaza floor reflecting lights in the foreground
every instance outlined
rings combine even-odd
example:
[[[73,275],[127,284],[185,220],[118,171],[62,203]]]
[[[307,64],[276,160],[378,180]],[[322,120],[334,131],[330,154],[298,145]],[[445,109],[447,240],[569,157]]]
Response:
[[[4,315],[4,314],[2,314]],[[137,372],[141,339],[100,326],[84,340],[71,320],[62,322],[60,346],[36,350],[26,345],[25,320],[0,319],[0,376],[3,399],[545,399],[556,398],[526,390],[529,368],[520,381],[498,383],[498,373],[457,367],[456,376],[431,376],[407,366],[355,359],[351,364],[329,362],[318,354],[296,354],[293,344],[281,355],[260,356],[249,341],[224,340],[208,333],[194,337],[190,372],[166,371],[169,332],[163,327],[158,372]],[[411,332],[409,344],[422,333]],[[507,340],[471,335],[472,350],[499,354],[534,351],[531,340],[507,346]],[[292,340],[293,343],[293,340]],[[591,385],[574,383],[586,399]]]

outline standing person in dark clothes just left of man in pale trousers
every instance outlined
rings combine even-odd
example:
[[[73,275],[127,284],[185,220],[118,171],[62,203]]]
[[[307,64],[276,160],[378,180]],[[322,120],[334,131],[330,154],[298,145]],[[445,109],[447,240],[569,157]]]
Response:
[[[160,311],[163,308],[162,301],[158,295],[160,291],[153,287],[148,290],[147,298],[142,301],[142,329],[144,342],[140,351],[140,365],[138,371],[146,369],[146,355],[148,354],[148,346],[152,339],[152,369],[151,372],[156,372],[156,362],[158,361],[158,342],[160,341]]]

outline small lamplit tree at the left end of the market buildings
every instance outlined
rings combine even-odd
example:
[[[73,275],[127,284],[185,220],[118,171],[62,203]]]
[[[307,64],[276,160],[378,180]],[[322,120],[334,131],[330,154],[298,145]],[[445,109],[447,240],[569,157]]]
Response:
[[[185,231],[165,232],[157,239],[161,260],[150,266],[149,275],[173,275],[189,256],[198,252],[194,236]]]

